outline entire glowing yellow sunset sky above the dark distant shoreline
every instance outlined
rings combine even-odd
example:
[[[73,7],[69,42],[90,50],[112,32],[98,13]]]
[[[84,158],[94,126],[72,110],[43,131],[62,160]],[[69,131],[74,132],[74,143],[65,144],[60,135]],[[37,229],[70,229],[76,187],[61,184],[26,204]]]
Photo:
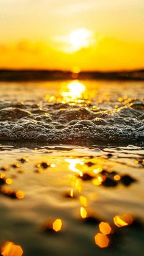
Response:
[[[144,68],[143,0],[0,0],[0,68]]]

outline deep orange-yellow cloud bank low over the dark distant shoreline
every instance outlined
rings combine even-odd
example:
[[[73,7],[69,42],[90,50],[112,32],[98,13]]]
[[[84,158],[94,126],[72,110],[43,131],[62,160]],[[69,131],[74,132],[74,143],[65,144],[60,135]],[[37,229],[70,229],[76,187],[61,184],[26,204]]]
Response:
[[[97,45],[75,53],[51,49],[41,42],[20,41],[0,45],[0,68],[59,68],[81,70],[126,70],[144,67],[144,45],[103,38]]]

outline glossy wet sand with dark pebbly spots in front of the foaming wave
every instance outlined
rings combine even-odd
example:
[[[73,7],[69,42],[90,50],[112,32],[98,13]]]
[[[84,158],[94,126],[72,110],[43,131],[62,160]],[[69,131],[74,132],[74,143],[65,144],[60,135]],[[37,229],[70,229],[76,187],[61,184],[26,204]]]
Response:
[[[27,256],[142,255],[143,153],[134,146],[1,146],[1,167],[9,168],[1,175],[12,180],[1,186],[1,243],[20,244]],[[129,185],[123,183],[124,175],[133,179]],[[107,177],[115,180],[114,186],[103,183]],[[24,194],[11,197],[9,189]],[[126,213],[133,224],[117,227],[113,217]],[[49,218],[62,221],[60,232],[45,229]],[[106,248],[94,240],[101,222],[108,222],[114,232]]]

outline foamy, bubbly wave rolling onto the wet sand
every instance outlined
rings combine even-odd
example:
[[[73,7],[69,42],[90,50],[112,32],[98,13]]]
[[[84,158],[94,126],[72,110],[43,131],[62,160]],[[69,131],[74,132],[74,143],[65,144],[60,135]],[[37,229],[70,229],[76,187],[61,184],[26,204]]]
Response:
[[[111,108],[111,109],[110,109]],[[0,140],[65,142],[144,142],[144,103],[132,100],[117,108],[94,103],[27,104],[0,102]]]

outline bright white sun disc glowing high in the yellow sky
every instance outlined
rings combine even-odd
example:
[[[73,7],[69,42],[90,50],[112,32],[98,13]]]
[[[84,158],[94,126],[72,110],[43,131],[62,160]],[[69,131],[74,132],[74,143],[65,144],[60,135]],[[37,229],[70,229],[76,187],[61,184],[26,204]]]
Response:
[[[87,48],[92,43],[93,32],[81,28],[71,32],[69,42],[73,48],[73,51],[78,51],[82,48]]]

